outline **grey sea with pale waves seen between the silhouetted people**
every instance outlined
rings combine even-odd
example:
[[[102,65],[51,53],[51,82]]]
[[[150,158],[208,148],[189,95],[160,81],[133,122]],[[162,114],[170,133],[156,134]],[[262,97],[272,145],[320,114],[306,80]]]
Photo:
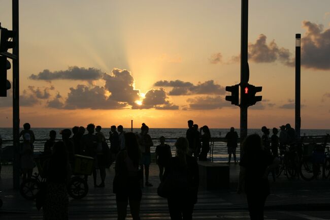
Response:
[[[59,132],[66,128],[32,128],[31,130],[35,133],[36,141],[34,143],[34,153],[39,154],[43,151],[44,143],[49,138],[49,132],[51,130],[56,131],[57,136],[56,139],[61,139],[61,135]],[[124,129],[125,132],[130,132],[131,129]],[[140,133],[141,129],[134,128],[134,133]],[[183,129],[163,129],[163,128],[150,128],[149,135],[153,139],[154,146],[151,147],[151,153],[155,151],[155,147],[159,144],[159,138],[164,136],[166,138],[166,143],[171,146],[172,155],[175,155],[176,149],[174,143],[177,138],[186,136],[186,128]],[[220,138],[211,143],[211,150],[208,154],[209,160],[213,162],[226,162],[228,160],[227,147],[226,143],[223,141],[225,135],[229,129],[210,129],[212,138]],[[105,135],[106,138],[109,138],[110,128],[102,128],[101,132]],[[240,134],[239,129],[237,133]],[[271,132],[272,133],[272,132]],[[249,134],[259,134],[262,135],[261,129],[248,129]],[[324,136],[326,134],[330,134],[330,130],[324,129],[302,129],[301,136]],[[3,148],[11,148],[12,147],[12,139],[13,139],[13,129],[11,128],[0,128],[0,135],[3,138]],[[272,134],[271,134],[272,135]],[[221,140],[222,138],[222,140]],[[21,138],[22,139],[22,138]],[[110,143],[109,143],[110,144]],[[240,147],[240,144],[239,144]],[[240,160],[240,150],[237,149],[237,158]]]

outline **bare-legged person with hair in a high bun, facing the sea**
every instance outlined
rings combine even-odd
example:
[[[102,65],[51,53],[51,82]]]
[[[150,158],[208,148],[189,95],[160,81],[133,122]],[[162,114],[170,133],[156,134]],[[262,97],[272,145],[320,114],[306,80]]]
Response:
[[[143,172],[145,170],[145,177],[146,177],[146,186],[152,186],[149,182],[149,166],[151,163],[151,153],[150,147],[153,146],[153,142],[151,140],[150,135],[148,135],[149,127],[142,123],[141,133],[138,134],[138,143],[141,151],[141,159],[140,159],[140,167]],[[125,140],[126,141],[126,140]],[[126,144],[127,146],[127,144]]]

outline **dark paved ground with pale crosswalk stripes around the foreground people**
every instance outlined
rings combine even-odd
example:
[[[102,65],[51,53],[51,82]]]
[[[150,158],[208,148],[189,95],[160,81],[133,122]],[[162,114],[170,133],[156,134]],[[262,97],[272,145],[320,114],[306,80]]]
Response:
[[[239,174],[239,165],[230,164],[229,168],[230,188],[212,192],[205,191],[201,188],[199,199],[194,209],[194,219],[249,218],[246,210],[245,196],[238,195],[235,190]],[[90,188],[87,196],[81,200],[70,199],[70,219],[116,219],[115,195],[112,193],[113,176],[114,169],[111,167],[107,169],[105,188],[92,187],[92,178],[90,177],[88,179]],[[97,179],[100,181],[99,176]],[[144,187],[142,190],[142,219],[169,219],[167,200],[158,197],[156,194],[159,177],[158,167],[155,164],[151,164],[150,167],[150,182],[153,183],[154,186]],[[306,182],[302,179],[298,179],[289,181],[283,175],[276,179],[276,182],[271,180],[271,185],[272,194],[269,196],[266,203],[266,214],[274,213],[273,215],[275,216],[281,216],[280,213],[277,213],[279,210],[282,212],[289,210],[290,213],[292,210],[306,211],[314,210],[315,208],[329,210],[330,180]],[[2,191],[0,197],[4,202],[3,207],[0,208],[0,219],[42,219],[42,211],[38,211],[35,208],[35,202],[23,199],[18,191],[12,189],[11,166],[3,166],[0,190]],[[276,210],[276,213],[274,210]],[[128,214],[127,219],[131,219],[129,217],[130,215]],[[266,219],[285,218],[274,218],[272,214],[270,214]]]

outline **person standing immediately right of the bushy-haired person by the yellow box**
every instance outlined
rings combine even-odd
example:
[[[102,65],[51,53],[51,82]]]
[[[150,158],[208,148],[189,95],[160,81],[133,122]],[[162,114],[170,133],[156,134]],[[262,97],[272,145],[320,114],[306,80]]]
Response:
[[[97,167],[100,169],[100,176],[101,176],[101,184],[97,185],[97,187],[104,187],[105,186],[105,179],[106,179],[106,167],[107,167],[107,155],[109,154],[109,147],[107,142],[104,140],[104,135],[101,133],[96,134],[97,137],[97,148],[96,148],[96,161]]]

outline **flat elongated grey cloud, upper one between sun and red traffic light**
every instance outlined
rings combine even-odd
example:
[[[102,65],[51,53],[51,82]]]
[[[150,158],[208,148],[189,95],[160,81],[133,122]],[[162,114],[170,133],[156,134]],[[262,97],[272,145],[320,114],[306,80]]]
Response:
[[[225,89],[219,84],[215,84],[213,80],[199,82],[193,85],[191,82],[175,81],[157,81],[155,86],[173,87],[169,92],[170,96],[188,96],[188,95],[223,95]]]

